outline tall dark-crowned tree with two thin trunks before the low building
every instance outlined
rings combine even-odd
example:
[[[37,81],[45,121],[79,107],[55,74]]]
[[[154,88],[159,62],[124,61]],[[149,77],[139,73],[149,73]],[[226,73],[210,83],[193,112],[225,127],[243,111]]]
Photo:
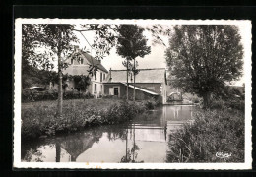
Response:
[[[134,100],[135,100],[135,75],[138,73],[136,70],[136,57],[144,57],[145,55],[150,54],[151,47],[147,46],[147,39],[143,35],[143,28],[140,28],[136,25],[121,25],[118,28],[118,43],[117,43],[117,53],[126,59],[126,62],[123,62],[124,66],[127,69],[127,99],[128,99],[128,71],[129,63],[133,60],[133,76],[134,76]]]

